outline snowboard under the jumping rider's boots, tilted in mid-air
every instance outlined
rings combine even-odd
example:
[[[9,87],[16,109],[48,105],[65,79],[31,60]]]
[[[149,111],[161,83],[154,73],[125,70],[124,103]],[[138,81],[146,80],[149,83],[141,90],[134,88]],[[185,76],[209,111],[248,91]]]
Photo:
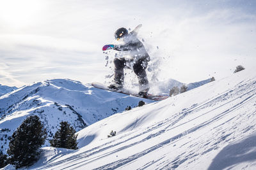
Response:
[[[131,95],[131,96],[134,96],[134,97],[141,97],[141,98],[144,98],[144,99],[150,99],[150,100],[154,100],[154,101],[163,101],[164,99],[168,98],[168,96],[154,95],[154,94],[148,94],[147,96],[140,96],[140,95],[138,95],[134,92],[130,92],[127,89],[122,89],[122,90],[117,90],[116,91],[116,90],[109,89],[107,85],[104,85],[104,84],[99,83],[99,82],[93,82],[92,86],[97,88],[97,89],[109,90],[111,92],[127,94],[127,95]]]

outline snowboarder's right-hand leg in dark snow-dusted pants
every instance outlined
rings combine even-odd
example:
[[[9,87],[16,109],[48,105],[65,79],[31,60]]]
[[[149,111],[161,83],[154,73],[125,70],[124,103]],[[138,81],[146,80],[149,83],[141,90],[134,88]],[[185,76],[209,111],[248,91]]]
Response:
[[[140,59],[133,66],[134,73],[137,75],[140,83],[140,92],[146,92],[146,93],[149,89],[147,73],[145,71],[145,69],[147,68],[147,65],[148,65],[147,61]]]

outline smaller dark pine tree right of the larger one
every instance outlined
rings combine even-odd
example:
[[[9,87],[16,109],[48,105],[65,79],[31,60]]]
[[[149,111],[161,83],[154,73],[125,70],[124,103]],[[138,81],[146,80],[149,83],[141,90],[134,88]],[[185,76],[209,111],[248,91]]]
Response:
[[[60,122],[60,129],[54,134],[50,143],[52,147],[77,149],[77,134],[75,129],[68,122]]]

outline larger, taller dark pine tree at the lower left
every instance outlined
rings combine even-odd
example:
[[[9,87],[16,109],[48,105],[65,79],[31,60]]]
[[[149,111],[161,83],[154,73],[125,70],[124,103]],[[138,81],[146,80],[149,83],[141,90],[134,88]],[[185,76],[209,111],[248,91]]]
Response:
[[[7,151],[10,164],[16,168],[31,166],[41,153],[40,147],[45,143],[46,134],[39,117],[33,115],[26,118],[10,139]]]

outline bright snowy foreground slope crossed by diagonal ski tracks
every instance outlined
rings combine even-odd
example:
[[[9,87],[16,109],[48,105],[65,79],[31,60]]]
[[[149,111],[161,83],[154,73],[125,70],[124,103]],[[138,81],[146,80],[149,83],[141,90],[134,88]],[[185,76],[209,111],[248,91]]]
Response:
[[[77,132],[79,150],[44,148],[30,169],[255,169],[255,115],[244,70],[100,120]]]

